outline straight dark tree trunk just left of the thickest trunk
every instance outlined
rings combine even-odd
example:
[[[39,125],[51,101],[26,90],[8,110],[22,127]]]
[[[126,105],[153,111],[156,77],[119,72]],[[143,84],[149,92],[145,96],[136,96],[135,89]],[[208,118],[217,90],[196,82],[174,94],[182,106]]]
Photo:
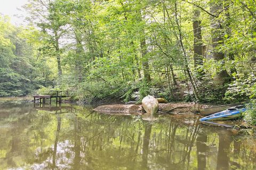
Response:
[[[194,10],[194,19],[193,19],[193,30],[194,30],[194,66],[203,65],[203,42],[202,42],[202,33],[201,33],[201,20],[199,19],[200,11],[196,8]],[[203,71],[198,71],[199,75],[203,74]]]

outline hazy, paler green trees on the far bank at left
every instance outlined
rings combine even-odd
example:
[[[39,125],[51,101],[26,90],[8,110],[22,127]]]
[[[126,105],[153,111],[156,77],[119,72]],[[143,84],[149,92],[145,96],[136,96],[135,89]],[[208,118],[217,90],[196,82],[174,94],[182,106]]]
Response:
[[[39,75],[44,67],[38,60],[36,42],[29,42],[28,30],[14,27],[9,19],[0,16],[0,96],[24,96],[46,86],[47,75]],[[38,31],[30,32],[33,38]],[[48,73],[49,76],[50,72]]]

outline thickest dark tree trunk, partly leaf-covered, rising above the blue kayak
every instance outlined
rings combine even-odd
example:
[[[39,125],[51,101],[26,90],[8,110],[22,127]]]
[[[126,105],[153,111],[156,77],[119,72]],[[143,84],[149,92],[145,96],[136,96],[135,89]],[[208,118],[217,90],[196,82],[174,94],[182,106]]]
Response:
[[[210,12],[215,16],[218,16],[219,11],[222,10],[222,2],[213,1],[210,3]],[[221,68],[217,70],[215,84],[224,86],[225,83],[229,82],[229,74],[226,69],[223,69],[225,63],[223,59],[225,55],[219,52],[217,47],[223,44],[223,29],[219,18],[211,16],[211,27],[212,27],[212,47],[213,47],[213,58],[215,61],[220,62]]]

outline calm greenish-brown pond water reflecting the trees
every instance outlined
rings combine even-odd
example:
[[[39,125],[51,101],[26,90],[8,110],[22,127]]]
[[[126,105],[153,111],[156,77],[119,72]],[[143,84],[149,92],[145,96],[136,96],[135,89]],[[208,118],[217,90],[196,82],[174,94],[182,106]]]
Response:
[[[198,116],[106,115],[0,98],[0,169],[256,169],[253,133]],[[57,111],[54,111],[57,110]]]

